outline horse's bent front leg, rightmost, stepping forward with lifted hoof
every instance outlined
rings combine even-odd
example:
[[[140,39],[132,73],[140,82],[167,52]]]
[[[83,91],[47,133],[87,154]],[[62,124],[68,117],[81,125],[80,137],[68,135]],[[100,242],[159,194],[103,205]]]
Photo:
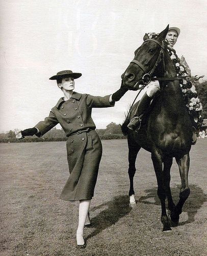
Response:
[[[179,215],[182,213],[184,203],[190,195],[190,188],[188,186],[188,172],[190,167],[190,157],[189,153],[183,156],[182,158],[175,158],[179,166],[179,174],[181,178],[181,188],[179,193],[179,201],[174,207],[173,211],[170,214],[171,221],[178,225]]]

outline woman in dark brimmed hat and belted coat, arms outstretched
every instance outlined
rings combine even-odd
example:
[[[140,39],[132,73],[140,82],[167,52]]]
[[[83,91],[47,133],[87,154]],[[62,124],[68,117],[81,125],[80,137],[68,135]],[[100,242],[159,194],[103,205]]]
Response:
[[[98,167],[102,155],[101,141],[95,132],[95,124],[91,118],[92,108],[114,106],[127,91],[121,88],[105,97],[92,96],[74,92],[74,79],[81,73],[64,70],[50,77],[57,80],[58,87],[64,97],[51,109],[49,116],[31,129],[19,132],[16,137],[36,135],[41,137],[56,124],[60,123],[66,133],[67,160],[70,176],[62,190],[60,198],[66,201],[80,201],[79,225],[76,231],[77,248],[85,248],[84,225],[90,224],[89,207],[94,194],[98,175]]]

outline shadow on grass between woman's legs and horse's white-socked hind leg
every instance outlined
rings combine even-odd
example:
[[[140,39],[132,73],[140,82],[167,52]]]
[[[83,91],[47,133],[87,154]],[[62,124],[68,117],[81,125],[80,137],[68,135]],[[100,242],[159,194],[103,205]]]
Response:
[[[107,207],[107,209],[102,210],[95,218],[91,219],[92,226],[95,227],[95,230],[89,234],[87,239],[96,236],[98,233],[114,225],[119,219],[129,214],[132,208],[129,207],[128,204],[128,196],[121,195],[114,197],[110,202],[92,207],[92,212],[101,208]]]

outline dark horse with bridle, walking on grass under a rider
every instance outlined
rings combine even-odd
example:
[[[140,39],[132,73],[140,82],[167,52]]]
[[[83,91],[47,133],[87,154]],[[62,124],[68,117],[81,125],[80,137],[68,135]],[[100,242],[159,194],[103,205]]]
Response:
[[[145,34],[143,44],[135,51],[134,59],[121,76],[123,83],[130,90],[138,90],[139,84],[143,84],[146,80],[149,81],[152,76],[156,76],[160,81],[161,92],[159,97],[154,98],[152,102],[153,106],[148,113],[146,124],[141,125],[138,132],[128,130],[127,140],[129,196],[134,197],[135,194],[133,187],[133,178],[136,172],[135,161],[142,147],[151,152],[158,182],[158,197],[162,206],[163,231],[170,231],[170,225],[178,225],[179,215],[190,195],[188,172],[193,134],[190,116],[179,85],[179,77],[176,75],[165,43],[168,28],[169,26],[155,39],[149,39]],[[132,119],[137,104],[133,106],[128,119]],[[127,121],[123,124],[123,130]],[[178,164],[181,178],[179,201],[176,205],[170,190],[170,168],[173,157]],[[166,212],[166,198],[170,210],[170,221]]]

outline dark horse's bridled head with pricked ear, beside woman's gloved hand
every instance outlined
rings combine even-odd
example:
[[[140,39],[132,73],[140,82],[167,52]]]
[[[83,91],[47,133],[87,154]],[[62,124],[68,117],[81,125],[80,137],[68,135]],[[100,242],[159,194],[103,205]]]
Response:
[[[138,90],[139,84],[147,84],[150,81],[150,77],[162,58],[168,29],[169,25],[156,39],[149,39],[147,34],[144,35],[143,44],[135,51],[134,59],[121,75],[121,79],[128,89]]]

